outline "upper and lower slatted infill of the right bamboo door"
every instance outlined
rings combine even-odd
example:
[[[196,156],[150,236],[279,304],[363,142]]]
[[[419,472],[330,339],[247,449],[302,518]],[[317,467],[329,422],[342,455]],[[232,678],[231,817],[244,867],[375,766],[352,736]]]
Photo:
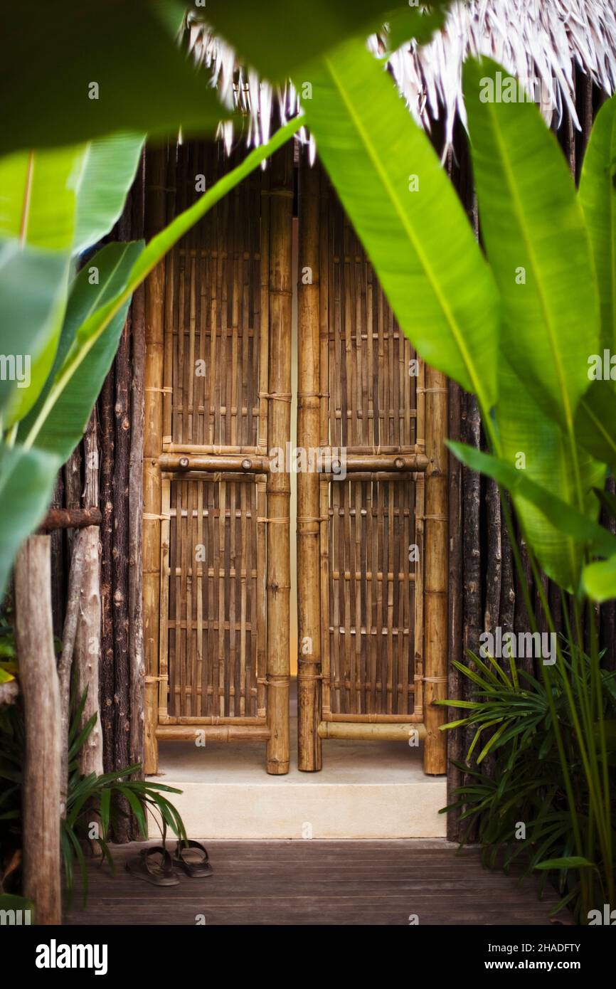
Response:
[[[321,445],[377,460],[321,482],[322,716],[420,720],[424,478],[379,458],[424,450],[423,371],[331,189],[323,254]]]

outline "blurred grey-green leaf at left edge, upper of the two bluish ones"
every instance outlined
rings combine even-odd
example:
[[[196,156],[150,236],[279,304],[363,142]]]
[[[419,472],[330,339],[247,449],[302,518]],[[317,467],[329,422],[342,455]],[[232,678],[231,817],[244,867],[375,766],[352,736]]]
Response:
[[[0,414],[4,427],[16,418],[21,396],[36,387],[33,354],[44,353],[46,341],[61,320],[67,264],[59,251],[0,239]]]

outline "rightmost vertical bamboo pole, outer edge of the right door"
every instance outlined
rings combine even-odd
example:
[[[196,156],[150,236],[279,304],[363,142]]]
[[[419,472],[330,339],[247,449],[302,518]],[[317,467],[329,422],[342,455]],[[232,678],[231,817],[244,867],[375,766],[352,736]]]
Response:
[[[425,484],[425,674],[426,739],[423,767],[427,773],[447,771],[447,740],[439,726],[447,710],[435,700],[447,687],[447,585],[449,572],[449,479],[447,379],[426,368],[425,441],[430,465]]]

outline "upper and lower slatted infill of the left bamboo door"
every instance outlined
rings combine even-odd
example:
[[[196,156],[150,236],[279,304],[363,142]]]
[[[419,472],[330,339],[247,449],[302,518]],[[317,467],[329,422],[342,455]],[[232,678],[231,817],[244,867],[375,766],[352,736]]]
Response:
[[[233,165],[220,144],[179,145],[176,213]],[[265,454],[264,178],[241,183],[174,248],[165,294],[159,723],[264,725],[265,476],[216,458]],[[267,314],[265,322],[267,323]]]

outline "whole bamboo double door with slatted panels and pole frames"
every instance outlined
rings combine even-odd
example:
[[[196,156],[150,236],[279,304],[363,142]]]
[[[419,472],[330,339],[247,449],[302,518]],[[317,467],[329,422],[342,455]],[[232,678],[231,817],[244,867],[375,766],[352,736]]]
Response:
[[[150,155],[150,232],[199,195],[196,177],[209,187],[230,164],[216,144]],[[320,169],[302,164],[299,178],[299,270],[297,169],[285,148],[146,285],[149,772],[157,740],[208,738],[262,741],[268,772],[289,771],[294,528],[300,768],[320,768],[323,738],[414,734],[425,740],[426,770],[445,769],[438,725],[437,752],[424,710],[430,589],[437,611],[444,600],[425,582],[426,503],[442,473],[426,456],[425,426],[429,397],[442,404],[444,383],[427,381],[415,361]],[[306,458],[291,518],[294,281],[294,439]],[[441,529],[444,518],[434,515]],[[438,649],[442,626],[440,607]],[[442,674],[432,656],[435,695]]]

